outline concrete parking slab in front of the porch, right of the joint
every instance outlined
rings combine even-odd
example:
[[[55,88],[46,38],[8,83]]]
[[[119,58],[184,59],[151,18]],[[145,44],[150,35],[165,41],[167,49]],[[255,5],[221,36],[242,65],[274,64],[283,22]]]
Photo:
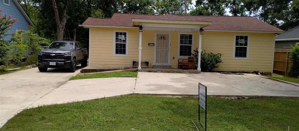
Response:
[[[198,83],[207,86],[207,95],[299,97],[299,86],[254,74],[201,74],[138,72],[135,93],[197,95]],[[297,84],[299,85],[299,84]]]

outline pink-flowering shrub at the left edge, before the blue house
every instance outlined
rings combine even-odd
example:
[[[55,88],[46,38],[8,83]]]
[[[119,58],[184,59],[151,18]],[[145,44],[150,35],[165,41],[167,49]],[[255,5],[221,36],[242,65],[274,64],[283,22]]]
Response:
[[[4,40],[4,37],[8,35],[8,31],[11,30],[10,26],[17,21],[16,18],[12,19],[11,15],[4,14],[2,16],[2,10],[0,9],[0,61],[5,60],[7,52],[10,50],[10,41]]]

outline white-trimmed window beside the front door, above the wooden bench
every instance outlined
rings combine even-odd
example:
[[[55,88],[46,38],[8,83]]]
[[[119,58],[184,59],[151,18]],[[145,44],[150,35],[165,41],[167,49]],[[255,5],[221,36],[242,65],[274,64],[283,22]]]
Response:
[[[190,57],[193,47],[194,34],[179,33],[179,56]]]

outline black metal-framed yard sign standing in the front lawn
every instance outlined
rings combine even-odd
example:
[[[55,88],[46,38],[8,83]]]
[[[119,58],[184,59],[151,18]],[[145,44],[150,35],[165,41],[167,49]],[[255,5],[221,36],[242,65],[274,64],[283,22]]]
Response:
[[[205,125],[200,121],[200,107],[205,110]],[[198,122],[207,131],[207,86],[198,83]]]

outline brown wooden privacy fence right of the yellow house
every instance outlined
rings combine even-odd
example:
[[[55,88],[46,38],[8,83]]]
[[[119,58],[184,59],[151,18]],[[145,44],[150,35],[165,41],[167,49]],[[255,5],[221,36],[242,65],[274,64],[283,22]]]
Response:
[[[292,64],[289,60],[290,52],[291,49],[275,49],[273,73],[285,75],[290,70]]]

